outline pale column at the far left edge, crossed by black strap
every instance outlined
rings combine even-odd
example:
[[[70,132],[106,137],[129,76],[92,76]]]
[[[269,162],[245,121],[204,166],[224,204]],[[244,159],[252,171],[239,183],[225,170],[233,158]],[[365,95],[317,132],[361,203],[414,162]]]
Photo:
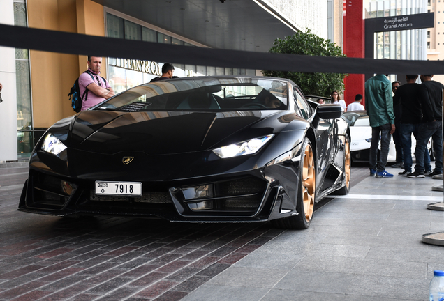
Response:
[[[0,0],[0,22],[14,25],[13,0]],[[0,162],[17,161],[17,90],[15,49],[0,47]]]

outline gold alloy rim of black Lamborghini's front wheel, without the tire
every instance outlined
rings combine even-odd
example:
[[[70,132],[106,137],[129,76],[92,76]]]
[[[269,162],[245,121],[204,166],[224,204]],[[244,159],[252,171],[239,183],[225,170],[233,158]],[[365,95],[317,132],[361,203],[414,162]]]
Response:
[[[302,201],[304,202],[304,213],[307,222],[313,217],[314,196],[316,185],[316,171],[311,145],[307,144],[304,152],[304,168],[302,169],[304,187],[302,187]]]

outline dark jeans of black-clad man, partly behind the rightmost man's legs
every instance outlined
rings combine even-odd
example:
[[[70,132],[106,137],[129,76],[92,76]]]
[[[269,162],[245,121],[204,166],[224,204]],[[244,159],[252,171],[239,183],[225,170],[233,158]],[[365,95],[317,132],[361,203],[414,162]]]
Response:
[[[403,123],[401,127],[401,139],[402,139],[402,153],[404,157],[404,170],[408,172],[412,172],[412,134],[417,139],[418,137],[418,128],[420,127],[420,123],[412,124],[412,123]],[[416,162],[417,162],[417,153]],[[424,164],[425,169],[427,171],[431,171],[430,165],[430,155],[429,152],[424,152]]]

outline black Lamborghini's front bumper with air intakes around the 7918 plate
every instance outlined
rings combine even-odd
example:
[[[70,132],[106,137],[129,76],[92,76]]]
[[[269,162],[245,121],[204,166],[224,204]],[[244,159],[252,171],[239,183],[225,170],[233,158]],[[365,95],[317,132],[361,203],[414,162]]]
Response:
[[[172,222],[263,222],[282,198],[262,171],[184,181],[142,183],[140,197],[98,196],[94,180],[30,169],[19,209],[43,215],[118,215]],[[203,192],[203,193],[202,193]]]

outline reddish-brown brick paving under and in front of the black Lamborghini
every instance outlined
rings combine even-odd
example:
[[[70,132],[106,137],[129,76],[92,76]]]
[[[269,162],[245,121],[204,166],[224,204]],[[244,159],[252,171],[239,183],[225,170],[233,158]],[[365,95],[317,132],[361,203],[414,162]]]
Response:
[[[0,169],[0,300],[180,300],[283,232],[20,213],[26,178]]]

